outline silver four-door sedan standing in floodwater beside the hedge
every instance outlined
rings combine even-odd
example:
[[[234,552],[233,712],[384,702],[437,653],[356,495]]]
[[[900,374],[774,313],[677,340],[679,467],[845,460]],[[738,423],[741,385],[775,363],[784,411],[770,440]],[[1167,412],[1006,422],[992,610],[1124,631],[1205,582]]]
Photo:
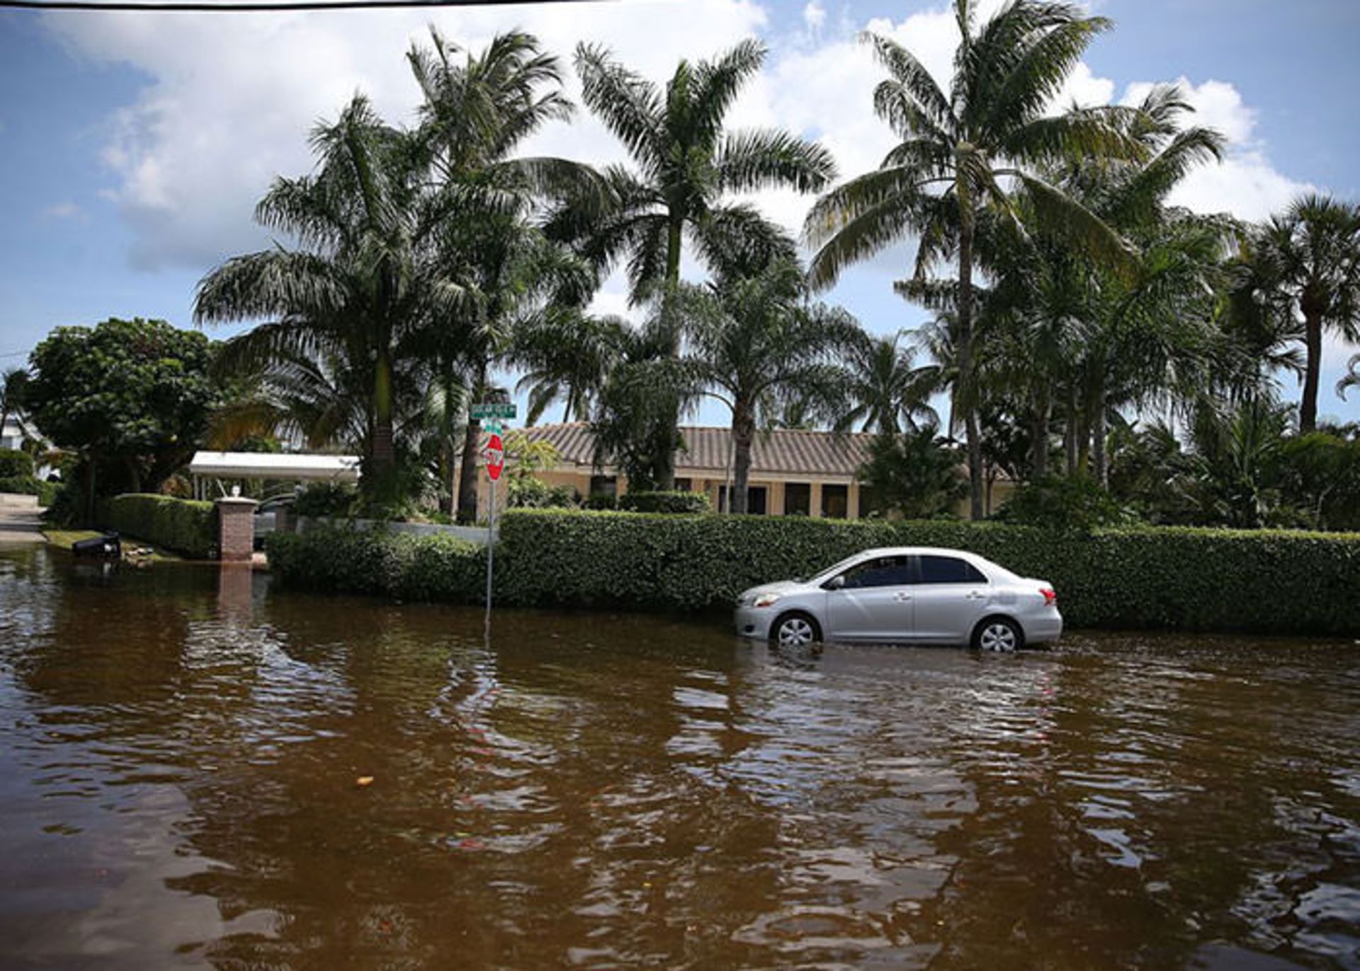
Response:
[[[866,549],[808,579],[737,598],[737,634],[781,646],[816,641],[972,645],[1019,650],[1057,641],[1053,585],[962,549]]]

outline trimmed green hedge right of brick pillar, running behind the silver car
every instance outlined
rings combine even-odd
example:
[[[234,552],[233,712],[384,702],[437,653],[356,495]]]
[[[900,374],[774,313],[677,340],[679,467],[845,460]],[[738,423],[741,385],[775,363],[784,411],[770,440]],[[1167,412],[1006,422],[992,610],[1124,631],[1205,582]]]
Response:
[[[1360,536],[1296,532],[521,510],[502,519],[496,598],[726,611],[749,586],[883,545],[971,549],[1047,579],[1076,627],[1360,632]],[[284,585],[454,602],[483,596],[481,551],[450,537],[333,528],[271,536],[267,549]]]

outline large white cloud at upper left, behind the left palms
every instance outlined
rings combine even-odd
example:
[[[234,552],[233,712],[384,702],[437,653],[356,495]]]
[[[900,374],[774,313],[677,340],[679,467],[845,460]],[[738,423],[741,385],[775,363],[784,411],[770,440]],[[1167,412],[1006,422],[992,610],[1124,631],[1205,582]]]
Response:
[[[416,92],[403,54],[427,37],[427,24],[473,49],[522,26],[563,57],[574,90],[570,57],[581,39],[661,80],[680,57],[709,57],[758,31],[766,14],[752,0],[688,0],[231,18],[50,14],[45,22],[75,52],[152,78],[110,121],[112,194],[133,230],[136,265],[207,268],[265,242],[252,222],[256,201],[275,175],[310,169],[309,129],[355,91],[388,120],[409,120]],[[585,112],[530,150],[623,155]]]

